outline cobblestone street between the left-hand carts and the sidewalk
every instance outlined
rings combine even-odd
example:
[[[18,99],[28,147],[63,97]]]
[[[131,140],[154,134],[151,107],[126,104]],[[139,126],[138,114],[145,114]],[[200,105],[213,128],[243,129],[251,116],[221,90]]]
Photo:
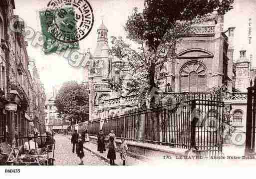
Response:
[[[78,165],[80,163],[80,159],[75,153],[72,153],[72,144],[70,143],[70,137],[63,136],[62,134],[56,134],[54,136],[54,139],[56,141],[54,165]],[[84,165],[108,165],[108,163],[101,160],[87,150],[84,150],[84,155]]]

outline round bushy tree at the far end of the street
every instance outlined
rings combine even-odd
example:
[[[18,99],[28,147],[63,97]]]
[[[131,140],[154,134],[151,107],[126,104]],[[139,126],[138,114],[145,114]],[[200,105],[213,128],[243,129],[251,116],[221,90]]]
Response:
[[[60,116],[74,122],[88,120],[89,98],[83,84],[76,81],[63,83],[56,95],[55,105]]]

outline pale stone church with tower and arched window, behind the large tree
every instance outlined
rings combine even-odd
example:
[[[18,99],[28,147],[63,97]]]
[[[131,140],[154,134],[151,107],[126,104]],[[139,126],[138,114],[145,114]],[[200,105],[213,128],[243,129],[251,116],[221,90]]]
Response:
[[[194,26],[195,34],[176,44],[176,58],[164,64],[168,75],[160,89],[165,94],[183,92],[207,93],[209,88],[225,85],[231,95],[225,99],[230,109],[231,124],[245,132],[247,87],[256,74],[248,60],[246,49],[235,59],[235,27],[224,30],[223,15],[213,14],[207,21]],[[89,94],[89,119],[104,119],[119,115],[138,104],[137,94],[120,95],[108,88],[108,79],[120,75],[116,66],[124,62],[109,54],[108,29],[102,23],[97,29],[97,46],[85,60],[85,83]]]

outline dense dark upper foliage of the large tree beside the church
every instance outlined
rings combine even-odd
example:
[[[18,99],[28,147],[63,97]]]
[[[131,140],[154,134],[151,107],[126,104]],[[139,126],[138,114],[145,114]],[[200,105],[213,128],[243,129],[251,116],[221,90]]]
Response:
[[[217,11],[225,14],[233,8],[234,0],[146,0],[143,12],[134,9],[128,17],[125,30],[131,40],[143,40],[157,49],[166,33],[177,21],[193,21]],[[182,30],[182,29],[181,29]]]

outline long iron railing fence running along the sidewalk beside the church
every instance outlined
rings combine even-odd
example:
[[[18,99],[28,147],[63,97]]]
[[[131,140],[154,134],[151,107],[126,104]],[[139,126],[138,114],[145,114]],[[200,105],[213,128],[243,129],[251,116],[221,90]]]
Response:
[[[174,99],[174,98],[173,98]],[[224,102],[218,96],[187,94],[166,105],[133,109],[120,116],[88,122],[88,133],[111,130],[128,141],[192,149],[201,155],[222,152]]]

